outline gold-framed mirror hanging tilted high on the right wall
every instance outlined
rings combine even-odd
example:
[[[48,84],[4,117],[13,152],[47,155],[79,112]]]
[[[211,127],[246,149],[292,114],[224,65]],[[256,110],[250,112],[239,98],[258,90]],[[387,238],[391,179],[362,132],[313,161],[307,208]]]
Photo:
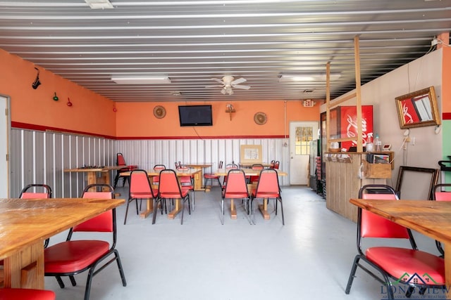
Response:
[[[401,129],[440,125],[433,86],[395,98]]]

